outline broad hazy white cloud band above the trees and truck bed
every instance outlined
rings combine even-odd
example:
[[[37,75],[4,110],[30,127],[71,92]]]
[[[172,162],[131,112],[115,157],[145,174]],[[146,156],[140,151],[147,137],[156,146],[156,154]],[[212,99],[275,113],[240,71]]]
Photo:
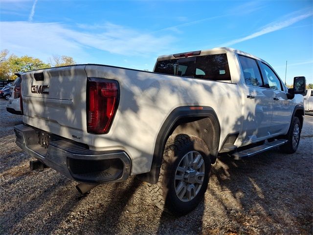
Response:
[[[84,27],[88,28],[88,25]],[[38,54],[40,58],[47,58],[52,53],[68,54],[83,58],[83,61],[90,48],[142,56],[168,51],[176,40],[170,35],[152,35],[111,23],[103,24],[96,33],[60,23],[0,22],[0,29],[1,47],[14,53]]]

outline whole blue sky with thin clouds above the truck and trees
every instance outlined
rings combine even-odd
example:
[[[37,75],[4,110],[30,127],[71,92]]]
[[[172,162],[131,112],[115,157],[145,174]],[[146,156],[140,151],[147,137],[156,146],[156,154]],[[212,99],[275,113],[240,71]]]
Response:
[[[313,83],[313,0],[1,0],[0,49],[152,71],[156,57],[233,47]]]

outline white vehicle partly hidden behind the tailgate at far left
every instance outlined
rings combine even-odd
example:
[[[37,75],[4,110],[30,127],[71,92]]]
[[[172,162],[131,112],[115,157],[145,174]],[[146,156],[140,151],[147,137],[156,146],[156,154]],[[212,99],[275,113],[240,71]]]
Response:
[[[6,111],[11,114],[22,115],[21,104],[20,104],[20,92],[21,92],[21,74],[15,73],[18,76],[17,79],[12,83],[10,87],[11,96],[9,97],[9,103],[6,105]]]

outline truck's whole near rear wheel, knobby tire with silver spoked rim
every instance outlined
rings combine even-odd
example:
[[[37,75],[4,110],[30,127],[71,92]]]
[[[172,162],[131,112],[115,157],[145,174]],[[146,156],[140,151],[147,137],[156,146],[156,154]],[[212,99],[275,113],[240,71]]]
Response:
[[[172,135],[166,142],[156,185],[148,184],[155,205],[176,215],[186,214],[201,202],[207,189],[211,163],[200,138]]]

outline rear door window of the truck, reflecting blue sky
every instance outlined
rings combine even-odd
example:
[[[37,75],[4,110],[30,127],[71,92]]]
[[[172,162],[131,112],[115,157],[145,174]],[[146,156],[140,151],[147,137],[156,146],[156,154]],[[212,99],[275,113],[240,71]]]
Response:
[[[238,55],[238,57],[244,72],[246,85],[263,87],[261,73],[256,60],[242,55]]]

